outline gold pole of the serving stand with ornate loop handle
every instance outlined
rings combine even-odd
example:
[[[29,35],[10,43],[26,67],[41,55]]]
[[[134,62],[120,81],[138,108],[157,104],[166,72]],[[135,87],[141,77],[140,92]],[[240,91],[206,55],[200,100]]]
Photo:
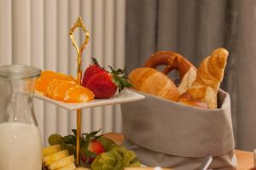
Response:
[[[75,31],[76,28],[82,28],[82,31],[85,34],[84,42],[83,42],[81,48],[79,48],[78,43],[74,39],[73,32]],[[79,16],[78,20],[74,23],[73,27],[70,28],[70,30],[69,30],[69,37],[70,37],[71,41],[73,42],[73,46],[76,48],[76,52],[78,54],[78,58],[77,58],[77,62],[78,62],[78,66],[77,66],[77,79],[78,79],[79,85],[81,85],[81,79],[82,79],[82,68],[81,68],[82,53],[83,53],[84,48],[87,47],[87,44],[88,44],[88,42],[90,40],[90,34],[86,30],[86,27],[85,27],[85,25],[83,23],[83,20],[82,20],[82,18],[80,16]],[[82,119],[82,110],[78,110],[77,111],[77,156],[76,156],[76,164],[77,165],[80,165],[81,119]]]

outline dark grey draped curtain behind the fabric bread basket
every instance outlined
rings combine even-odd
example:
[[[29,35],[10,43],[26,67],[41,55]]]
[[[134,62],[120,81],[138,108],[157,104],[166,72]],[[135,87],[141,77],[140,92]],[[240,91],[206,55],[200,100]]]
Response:
[[[231,97],[236,148],[256,147],[256,1],[129,0],[125,61],[140,67],[150,54],[172,50],[196,66],[219,47],[230,51],[221,88]],[[218,125],[212,125],[218,126]]]

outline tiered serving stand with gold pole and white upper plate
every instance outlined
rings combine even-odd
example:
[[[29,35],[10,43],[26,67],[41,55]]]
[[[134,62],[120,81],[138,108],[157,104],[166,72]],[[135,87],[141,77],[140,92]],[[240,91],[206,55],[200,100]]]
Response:
[[[73,32],[75,31],[76,28],[81,28],[82,31],[84,32],[84,42],[79,48],[77,42],[74,39]],[[74,23],[73,27],[69,31],[69,37],[71,38],[73,42],[73,46],[76,49],[76,52],[78,54],[77,57],[77,80],[79,84],[81,84],[81,77],[82,77],[82,69],[81,69],[81,63],[82,63],[82,53],[84,48],[86,48],[89,40],[90,40],[90,34],[86,30],[86,27],[84,26],[83,20],[79,16],[78,20]],[[50,99],[46,96],[40,95],[40,94],[35,94],[35,97],[38,99],[42,99],[46,102],[52,103],[54,105],[63,107],[69,111],[77,111],[77,155],[76,155],[76,164],[80,165],[80,153],[79,153],[79,138],[81,135],[81,119],[82,119],[82,109],[85,108],[90,108],[90,107],[97,107],[97,106],[103,106],[103,105],[115,105],[115,104],[121,104],[125,102],[131,102],[131,101],[137,101],[140,99],[144,99],[144,96],[142,94],[137,94],[134,91],[131,91],[129,89],[125,89],[121,94],[116,94],[110,99],[94,99],[93,101],[90,102],[85,102],[85,103],[66,103],[66,102],[61,102],[57,101],[55,99]]]

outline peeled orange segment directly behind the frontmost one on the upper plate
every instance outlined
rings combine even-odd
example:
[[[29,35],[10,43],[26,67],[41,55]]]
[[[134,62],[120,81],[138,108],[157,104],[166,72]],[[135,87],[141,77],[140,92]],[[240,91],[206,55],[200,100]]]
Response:
[[[55,87],[54,92],[52,94],[52,99],[63,101],[67,90],[75,86],[77,86],[75,82],[61,82],[59,85]]]

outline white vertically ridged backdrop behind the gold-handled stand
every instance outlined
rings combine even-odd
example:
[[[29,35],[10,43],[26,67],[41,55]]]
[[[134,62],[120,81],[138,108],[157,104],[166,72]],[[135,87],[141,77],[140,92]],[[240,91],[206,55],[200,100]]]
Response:
[[[83,67],[96,57],[105,67],[124,67],[125,0],[0,0],[0,65],[35,65],[42,70],[75,76],[76,53],[68,30],[81,15],[90,32]],[[80,31],[76,40],[82,42]],[[44,144],[50,133],[70,133],[75,112],[35,99],[34,107]],[[119,106],[83,111],[82,131],[102,127],[120,132]]]

